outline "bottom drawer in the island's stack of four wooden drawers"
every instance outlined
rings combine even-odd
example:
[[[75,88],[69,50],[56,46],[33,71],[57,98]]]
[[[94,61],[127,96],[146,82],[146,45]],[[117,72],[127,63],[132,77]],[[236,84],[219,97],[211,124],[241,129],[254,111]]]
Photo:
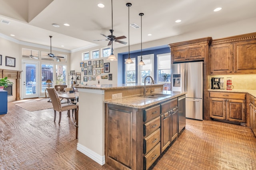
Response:
[[[144,169],[148,169],[160,155],[160,142],[146,156],[144,156]]]

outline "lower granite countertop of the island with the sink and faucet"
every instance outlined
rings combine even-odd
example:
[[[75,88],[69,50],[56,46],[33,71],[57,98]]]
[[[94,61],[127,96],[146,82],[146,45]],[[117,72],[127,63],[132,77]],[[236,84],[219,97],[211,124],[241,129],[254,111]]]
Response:
[[[126,106],[126,107],[134,107],[137,109],[142,109],[148,106],[152,106],[154,104],[158,104],[160,102],[164,102],[166,100],[170,100],[173,98],[177,98],[178,96],[182,96],[186,94],[186,92],[173,92],[173,91],[161,91],[161,92],[154,92],[153,94],[169,94],[169,96],[163,98],[142,98],[142,94],[135,95],[135,96],[127,96],[118,99],[109,99],[105,100],[105,103],[108,104],[115,104],[119,106]],[[148,95],[148,94],[147,94]]]

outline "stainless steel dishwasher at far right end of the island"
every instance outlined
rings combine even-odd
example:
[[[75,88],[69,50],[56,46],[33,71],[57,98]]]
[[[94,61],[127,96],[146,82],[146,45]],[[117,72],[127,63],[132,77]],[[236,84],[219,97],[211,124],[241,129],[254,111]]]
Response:
[[[178,133],[186,126],[186,95],[178,97]]]

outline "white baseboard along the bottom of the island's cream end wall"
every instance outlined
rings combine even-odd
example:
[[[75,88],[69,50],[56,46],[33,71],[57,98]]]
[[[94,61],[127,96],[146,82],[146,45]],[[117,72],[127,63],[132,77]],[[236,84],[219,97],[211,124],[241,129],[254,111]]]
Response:
[[[105,155],[100,156],[96,152],[86,148],[85,146],[83,146],[79,143],[77,143],[76,149],[78,151],[82,152],[83,154],[85,154],[86,156],[88,156],[89,158],[91,158],[92,160],[94,160],[95,162],[97,162],[98,164],[100,164],[101,166],[105,164]]]

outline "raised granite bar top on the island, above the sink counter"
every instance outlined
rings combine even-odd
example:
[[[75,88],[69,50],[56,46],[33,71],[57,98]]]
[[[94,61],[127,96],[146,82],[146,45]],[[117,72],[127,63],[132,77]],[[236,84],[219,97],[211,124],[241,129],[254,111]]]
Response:
[[[164,84],[146,84],[146,87],[148,86],[159,86]],[[144,84],[96,84],[91,86],[86,85],[79,85],[75,86],[75,88],[86,88],[86,89],[94,89],[94,90],[110,90],[110,89],[122,89],[122,88],[135,88],[135,87],[144,87]]]

